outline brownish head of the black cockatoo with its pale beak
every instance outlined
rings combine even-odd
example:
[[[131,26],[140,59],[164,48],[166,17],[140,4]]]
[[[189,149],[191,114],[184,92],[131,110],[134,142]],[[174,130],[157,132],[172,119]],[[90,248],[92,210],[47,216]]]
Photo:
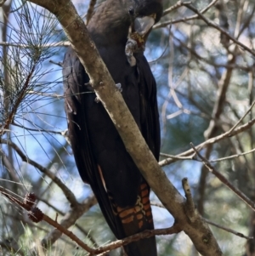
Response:
[[[106,0],[96,9],[88,29],[97,44],[125,45],[131,37],[144,45],[161,14],[161,0]]]

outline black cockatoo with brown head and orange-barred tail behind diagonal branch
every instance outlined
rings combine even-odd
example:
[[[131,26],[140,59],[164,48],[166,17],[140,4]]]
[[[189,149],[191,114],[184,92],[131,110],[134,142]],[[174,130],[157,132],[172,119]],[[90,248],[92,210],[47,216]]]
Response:
[[[156,80],[144,57],[144,45],[161,14],[161,0],[106,0],[94,10],[87,26],[156,160],[161,145]],[[117,239],[153,230],[150,186],[71,47],[63,60],[63,84],[68,137],[77,169],[94,191],[107,224]],[[123,248],[128,256],[157,255],[155,236]]]

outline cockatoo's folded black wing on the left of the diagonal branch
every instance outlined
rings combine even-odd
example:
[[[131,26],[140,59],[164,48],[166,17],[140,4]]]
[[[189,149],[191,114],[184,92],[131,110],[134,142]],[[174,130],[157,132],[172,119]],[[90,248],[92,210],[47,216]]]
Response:
[[[91,149],[90,136],[87,128],[86,109],[84,109],[85,94],[92,94],[91,89],[85,86],[89,77],[72,48],[68,48],[63,62],[63,77],[65,90],[65,113],[68,122],[69,138],[77,163],[78,171],[85,183],[91,185],[100,208],[114,233],[123,233],[118,230],[121,222],[116,223],[112,212],[109,197],[99,175],[99,168]],[[91,96],[89,96],[91,97]],[[93,95],[95,98],[95,95]]]

